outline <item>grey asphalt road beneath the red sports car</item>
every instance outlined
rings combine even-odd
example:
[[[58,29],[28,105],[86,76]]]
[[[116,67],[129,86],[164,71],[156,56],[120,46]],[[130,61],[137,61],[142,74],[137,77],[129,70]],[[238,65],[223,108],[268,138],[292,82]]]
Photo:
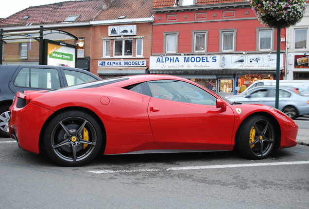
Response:
[[[304,209],[309,147],[252,161],[231,151],[98,156],[83,167],[0,139],[0,209]]]

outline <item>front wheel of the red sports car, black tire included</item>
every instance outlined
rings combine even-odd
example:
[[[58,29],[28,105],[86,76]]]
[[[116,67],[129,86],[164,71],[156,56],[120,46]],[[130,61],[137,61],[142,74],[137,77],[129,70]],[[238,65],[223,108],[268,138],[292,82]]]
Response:
[[[243,121],[237,132],[235,146],[240,155],[252,160],[268,157],[275,145],[272,121],[261,115]]]

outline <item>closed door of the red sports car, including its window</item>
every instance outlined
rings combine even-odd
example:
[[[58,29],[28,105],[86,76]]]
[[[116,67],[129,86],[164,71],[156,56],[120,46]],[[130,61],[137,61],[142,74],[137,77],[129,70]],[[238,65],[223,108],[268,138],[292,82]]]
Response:
[[[148,84],[152,93],[148,115],[158,145],[179,149],[231,145],[234,114],[229,107],[217,108],[216,97],[183,81]]]

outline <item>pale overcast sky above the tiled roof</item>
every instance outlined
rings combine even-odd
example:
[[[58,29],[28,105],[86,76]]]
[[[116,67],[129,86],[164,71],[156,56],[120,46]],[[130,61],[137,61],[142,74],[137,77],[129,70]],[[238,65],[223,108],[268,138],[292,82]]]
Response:
[[[1,0],[0,18],[13,15],[31,6],[39,6],[69,0]]]

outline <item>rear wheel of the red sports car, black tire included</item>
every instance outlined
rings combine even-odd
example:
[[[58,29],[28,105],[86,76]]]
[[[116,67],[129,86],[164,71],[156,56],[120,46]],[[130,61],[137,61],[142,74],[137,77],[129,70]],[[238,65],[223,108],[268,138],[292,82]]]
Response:
[[[51,119],[43,134],[47,155],[57,164],[69,167],[92,161],[103,143],[99,123],[82,111],[59,114]]]

